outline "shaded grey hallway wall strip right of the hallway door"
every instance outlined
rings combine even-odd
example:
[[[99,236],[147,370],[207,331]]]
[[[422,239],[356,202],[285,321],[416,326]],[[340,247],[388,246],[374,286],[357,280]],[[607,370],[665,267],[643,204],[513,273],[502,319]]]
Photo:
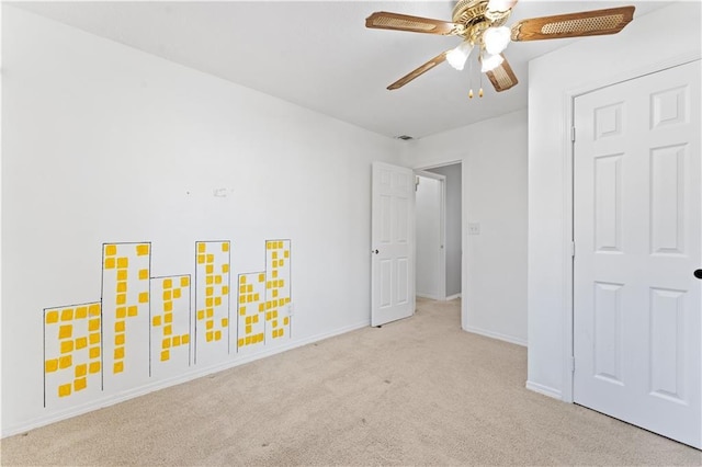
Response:
[[[435,167],[427,169],[428,172],[438,173],[446,178],[446,223],[445,223],[445,249],[446,249],[446,297],[461,295],[461,259],[463,258],[461,237],[461,196],[463,193],[461,183],[461,164]]]

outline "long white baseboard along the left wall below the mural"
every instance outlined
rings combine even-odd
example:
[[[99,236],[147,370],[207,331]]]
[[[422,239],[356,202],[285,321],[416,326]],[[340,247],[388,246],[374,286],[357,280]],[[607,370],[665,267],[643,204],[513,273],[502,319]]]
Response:
[[[188,383],[193,379],[202,378],[203,376],[212,375],[213,373],[219,373],[225,369],[234,368],[235,366],[244,365],[246,363],[253,362],[260,358],[265,358],[267,356],[286,352],[288,350],[307,345],[313,342],[319,342],[325,339],[333,338],[335,335],[344,334],[347,332],[355,331],[356,329],[365,328],[369,326],[371,326],[371,320],[363,320],[355,324],[346,326],[343,328],[339,328],[330,332],[324,332],[324,333],[312,335],[305,339],[291,341],[286,344],[281,344],[279,346],[275,346],[273,349],[268,349],[260,353],[234,356],[233,357],[234,360],[218,363],[216,365],[210,365],[204,368],[197,368],[195,371],[188,372],[177,377],[160,379],[158,381],[139,386],[137,388],[131,389],[125,392],[121,392],[118,395],[103,397],[103,398],[90,401],[88,403],[83,403],[81,406],[71,407],[70,409],[55,411],[50,414],[47,414],[44,417],[37,417],[24,423],[11,425],[11,426],[2,426],[2,431],[0,431],[0,437],[7,437],[7,436],[20,434],[20,433],[25,433],[30,430],[34,430],[39,426],[48,425],[50,423],[59,422],[61,420],[70,419],[72,417],[92,412],[93,410],[102,409],[104,407],[114,406],[115,403],[124,402],[125,400],[134,399],[135,397],[144,396],[149,392],[154,392],[160,389],[166,389],[171,386]]]

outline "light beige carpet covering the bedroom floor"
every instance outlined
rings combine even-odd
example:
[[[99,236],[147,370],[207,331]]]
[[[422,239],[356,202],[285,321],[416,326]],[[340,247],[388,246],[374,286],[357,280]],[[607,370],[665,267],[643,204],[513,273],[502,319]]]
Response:
[[[702,454],[524,389],[526,350],[458,301],[55,423],[3,465],[701,465]]]

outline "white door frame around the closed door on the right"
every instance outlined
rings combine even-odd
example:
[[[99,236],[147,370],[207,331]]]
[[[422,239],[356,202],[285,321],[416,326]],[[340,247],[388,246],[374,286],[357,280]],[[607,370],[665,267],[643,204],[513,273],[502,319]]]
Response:
[[[563,276],[564,281],[564,326],[563,326],[563,391],[561,399],[564,402],[573,403],[573,363],[574,363],[574,274],[573,274],[573,239],[574,239],[574,220],[575,220],[575,206],[574,206],[574,157],[575,145],[571,138],[571,128],[575,125],[575,99],[579,95],[587,94],[588,92],[596,91],[601,88],[607,88],[620,82],[633,80],[645,75],[663,71],[668,68],[673,68],[680,65],[689,64],[691,61],[700,60],[699,54],[684,54],[678,57],[673,57],[667,60],[650,64],[648,66],[630,70],[624,73],[612,76],[609,78],[600,78],[597,80],[588,81],[574,89],[566,91],[565,93],[565,107],[567,121],[563,128],[562,141],[563,153],[567,155],[564,159],[564,179],[563,179],[563,213],[564,225],[566,226],[563,231]]]

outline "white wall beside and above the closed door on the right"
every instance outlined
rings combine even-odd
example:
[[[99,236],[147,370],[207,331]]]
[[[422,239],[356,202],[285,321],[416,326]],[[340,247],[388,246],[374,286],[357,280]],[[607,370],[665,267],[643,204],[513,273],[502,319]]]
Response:
[[[571,98],[700,57],[700,2],[677,2],[614,36],[588,37],[529,68],[529,380],[571,400]]]

